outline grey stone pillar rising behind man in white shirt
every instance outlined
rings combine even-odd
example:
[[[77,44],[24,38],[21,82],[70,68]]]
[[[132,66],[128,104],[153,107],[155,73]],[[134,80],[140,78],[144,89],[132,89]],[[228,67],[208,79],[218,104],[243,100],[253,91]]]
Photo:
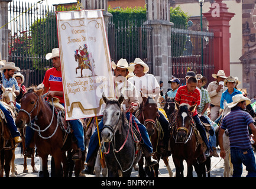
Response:
[[[170,0],[146,0],[147,21],[153,28],[153,66],[151,72],[164,82],[164,92],[171,79]]]

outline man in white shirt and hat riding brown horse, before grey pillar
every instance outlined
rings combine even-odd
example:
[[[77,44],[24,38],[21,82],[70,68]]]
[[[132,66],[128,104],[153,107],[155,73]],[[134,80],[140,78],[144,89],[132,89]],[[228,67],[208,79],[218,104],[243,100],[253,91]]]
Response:
[[[137,89],[139,102],[142,102],[141,94],[144,96],[158,97],[160,93],[160,86],[155,79],[153,74],[148,74],[149,67],[144,63],[140,58],[135,58],[134,60],[134,74],[135,76],[129,79],[129,82],[134,84]],[[158,114],[160,115],[158,120],[161,123],[161,126],[164,131],[164,148],[168,149],[168,135],[169,135],[169,122],[166,119],[166,116],[158,110]]]

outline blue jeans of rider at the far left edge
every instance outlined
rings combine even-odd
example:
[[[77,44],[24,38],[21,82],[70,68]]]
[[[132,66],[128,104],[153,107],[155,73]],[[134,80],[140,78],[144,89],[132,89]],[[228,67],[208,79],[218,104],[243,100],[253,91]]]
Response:
[[[9,110],[6,109],[6,107],[1,101],[0,101],[0,109],[4,112],[5,119],[7,120],[7,127],[11,132],[12,138],[16,136],[20,136],[21,133],[18,132],[17,126],[15,125],[15,122],[14,122],[14,118],[12,118],[11,113],[9,112]]]

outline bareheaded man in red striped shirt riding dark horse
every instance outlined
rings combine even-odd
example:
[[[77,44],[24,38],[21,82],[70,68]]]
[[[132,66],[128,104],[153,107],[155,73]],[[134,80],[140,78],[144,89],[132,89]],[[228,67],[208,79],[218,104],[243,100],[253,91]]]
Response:
[[[186,86],[181,86],[177,90],[175,100],[177,103],[182,104],[182,103],[187,103],[190,106],[193,106],[197,104],[197,106],[200,105],[200,92],[198,89],[196,89],[197,86],[197,79],[196,77],[189,77],[187,80],[187,85]],[[206,132],[205,128],[203,127],[199,116],[197,115],[197,110],[193,112],[193,119],[195,120],[196,123],[196,128],[200,132],[200,135],[203,139],[203,142],[205,142],[207,149],[205,151],[206,157],[209,157],[209,143],[208,139],[206,137]]]

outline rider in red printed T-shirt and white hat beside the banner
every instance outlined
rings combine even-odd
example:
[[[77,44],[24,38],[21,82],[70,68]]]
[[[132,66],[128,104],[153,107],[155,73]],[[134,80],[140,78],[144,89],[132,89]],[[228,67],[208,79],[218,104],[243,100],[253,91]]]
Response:
[[[64,106],[64,97],[63,97],[63,85],[62,85],[62,76],[61,76],[61,66],[60,66],[60,53],[59,48],[53,48],[52,53],[46,54],[46,59],[53,60],[53,68],[46,71],[44,76],[44,93],[47,93],[47,97],[57,97],[60,99],[60,104]],[[50,91],[48,91],[50,89]],[[69,120],[73,126],[73,133],[77,139],[78,151],[73,155],[72,159],[80,159],[81,151],[85,151],[85,138],[83,135],[83,125],[80,120]],[[27,127],[26,131],[26,147],[27,150],[24,153],[24,156],[31,157],[33,148],[28,148],[32,137],[34,136],[34,131]]]

